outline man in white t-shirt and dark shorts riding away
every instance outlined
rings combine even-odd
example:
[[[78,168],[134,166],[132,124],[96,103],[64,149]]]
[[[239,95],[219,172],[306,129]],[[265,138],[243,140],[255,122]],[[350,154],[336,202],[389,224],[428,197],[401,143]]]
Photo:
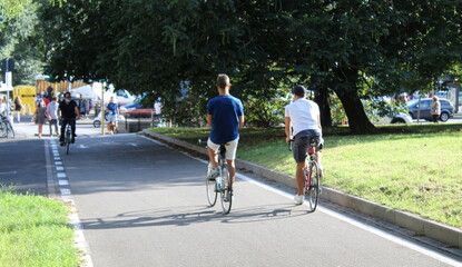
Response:
[[[294,196],[296,204],[303,204],[304,200],[304,169],[306,168],[306,151],[309,147],[309,140],[315,139],[316,159],[320,165],[321,174],[321,154],[322,149],[322,128],[320,119],[320,107],[312,100],[307,100],[306,89],[303,86],[296,86],[292,93],[294,101],[285,107],[285,135],[286,142],[294,140],[293,156],[296,162],[295,178],[297,182],[297,195]],[[293,128],[293,132],[291,129]]]

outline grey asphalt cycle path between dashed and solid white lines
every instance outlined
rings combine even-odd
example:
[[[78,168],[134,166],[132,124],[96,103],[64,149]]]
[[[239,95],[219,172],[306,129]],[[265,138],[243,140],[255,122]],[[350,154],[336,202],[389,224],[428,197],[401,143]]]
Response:
[[[58,148],[94,266],[460,266],[239,175],[229,215],[208,207],[206,165],[138,135]]]

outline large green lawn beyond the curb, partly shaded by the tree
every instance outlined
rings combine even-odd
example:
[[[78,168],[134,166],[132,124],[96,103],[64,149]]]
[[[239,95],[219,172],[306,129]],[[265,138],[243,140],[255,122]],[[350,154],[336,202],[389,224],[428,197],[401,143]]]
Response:
[[[462,228],[462,125],[384,126],[381,134],[324,132],[323,184]],[[207,128],[154,128],[197,144]],[[243,129],[237,157],[294,176],[283,129]]]

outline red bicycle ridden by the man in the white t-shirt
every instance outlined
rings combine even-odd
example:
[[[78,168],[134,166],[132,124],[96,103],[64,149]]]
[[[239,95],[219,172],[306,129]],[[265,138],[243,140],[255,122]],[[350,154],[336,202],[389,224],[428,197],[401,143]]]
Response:
[[[292,151],[293,142],[294,140],[288,142],[289,151]],[[308,212],[314,212],[316,210],[321,194],[321,174],[320,165],[316,162],[316,141],[314,138],[309,140],[309,147],[306,154],[304,194],[309,205]]]

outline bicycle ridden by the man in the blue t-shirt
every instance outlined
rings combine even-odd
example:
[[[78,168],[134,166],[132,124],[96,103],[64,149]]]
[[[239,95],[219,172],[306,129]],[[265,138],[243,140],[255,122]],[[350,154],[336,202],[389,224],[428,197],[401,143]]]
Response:
[[[212,171],[212,164],[207,167],[206,190],[207,199],[210,207],[214,207],[217,201],[218,192],[220,195],[223,214],[227,215],[230,211],[233,204],[233,184],[229,175],[229,167],[226,164],[226,147],[220,145],[218,149],[218,168],[219,176],[208,178]]]

